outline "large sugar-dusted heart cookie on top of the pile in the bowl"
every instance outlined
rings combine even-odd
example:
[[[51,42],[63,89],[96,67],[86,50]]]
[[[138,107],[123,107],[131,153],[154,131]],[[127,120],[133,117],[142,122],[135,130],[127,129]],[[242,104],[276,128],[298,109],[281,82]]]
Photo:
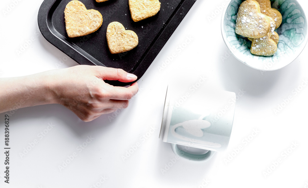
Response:
[[[257,1],[246,0],[238,9],[235,32],[254,39],[264,37],[271,29],[270,20],[269,16],[261,13]]]

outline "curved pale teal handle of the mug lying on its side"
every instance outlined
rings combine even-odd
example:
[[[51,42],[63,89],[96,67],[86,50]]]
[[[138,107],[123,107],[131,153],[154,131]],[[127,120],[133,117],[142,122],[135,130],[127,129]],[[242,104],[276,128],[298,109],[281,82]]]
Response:
[[[188,153],[188,152],[181,150],[180,148],[177,147],[177,144],[173,144],[173,143],[171,143],[171,148],[172,148],[172,151],[174,152],[174,154],[176,154],[180,157],[183,157],[185,159],[192,160],[192,161],[207,161],[211,157],[213,157],[213,155],[215,154],[215,152],[213,152],[211,150],[209,150],[205,154]]]

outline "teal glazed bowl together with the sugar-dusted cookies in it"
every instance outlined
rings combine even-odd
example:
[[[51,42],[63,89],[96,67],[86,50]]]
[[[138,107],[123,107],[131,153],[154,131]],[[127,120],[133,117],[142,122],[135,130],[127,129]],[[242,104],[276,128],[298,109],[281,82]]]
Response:
[[[221,19],[222,38],[230,53],[262,71],[294,61],[307,43],[307,28],[298,0],[231,0]]]

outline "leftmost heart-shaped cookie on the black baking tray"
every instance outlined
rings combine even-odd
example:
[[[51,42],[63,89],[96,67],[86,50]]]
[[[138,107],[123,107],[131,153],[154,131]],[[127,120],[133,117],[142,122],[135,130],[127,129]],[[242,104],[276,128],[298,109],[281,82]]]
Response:
[[[87,10],[80,1],[69,2],[64,10],[65,27],[68,37],[85,36],[103,23],[103,16],[97,10]]]

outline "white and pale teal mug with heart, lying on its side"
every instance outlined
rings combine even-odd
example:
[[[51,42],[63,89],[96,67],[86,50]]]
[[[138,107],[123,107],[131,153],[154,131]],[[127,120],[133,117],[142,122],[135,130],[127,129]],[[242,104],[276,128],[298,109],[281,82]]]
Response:
[[[168,86],[159,138],[171,143],[172,151],[180,157],[207,161],[228,147],[236,95],[206,86],[186,94],[179,94],[180,90]],[[178,145],[205,151],[196,154]]]

